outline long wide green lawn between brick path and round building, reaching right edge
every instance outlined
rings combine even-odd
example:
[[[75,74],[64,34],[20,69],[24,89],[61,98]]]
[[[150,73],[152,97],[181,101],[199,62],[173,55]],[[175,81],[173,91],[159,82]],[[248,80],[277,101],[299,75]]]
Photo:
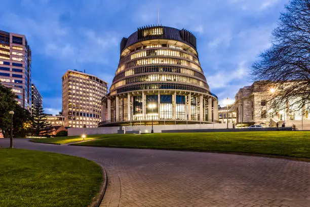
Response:
[[[310,131],[110,134],[79,146],[243,152],[310,158]]]

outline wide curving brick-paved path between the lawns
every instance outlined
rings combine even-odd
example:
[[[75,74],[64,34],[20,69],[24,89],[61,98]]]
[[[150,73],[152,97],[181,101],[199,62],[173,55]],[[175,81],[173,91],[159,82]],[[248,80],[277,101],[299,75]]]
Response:
[[[310,206],[310,163],[274,158],[36,144],[16,148],[85,157],[107,170],[100,206]],[[9,140],[0,139],[7,147]],[[0,158],[1,160],[1,158]]]

